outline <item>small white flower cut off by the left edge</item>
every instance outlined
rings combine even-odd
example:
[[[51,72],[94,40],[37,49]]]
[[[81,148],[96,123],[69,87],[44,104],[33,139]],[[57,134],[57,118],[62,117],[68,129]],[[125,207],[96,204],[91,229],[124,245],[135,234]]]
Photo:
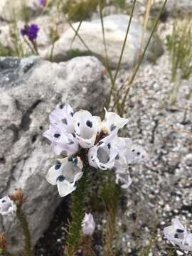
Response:
[[[9,196],[4,196],[0,199],[0,214],[9,215],[16,212],[16,204],[11,200]]]

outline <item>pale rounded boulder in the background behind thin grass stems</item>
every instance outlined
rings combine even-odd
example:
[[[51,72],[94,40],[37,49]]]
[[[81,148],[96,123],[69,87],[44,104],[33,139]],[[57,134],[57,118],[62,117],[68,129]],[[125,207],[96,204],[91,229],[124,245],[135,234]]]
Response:
[[[110,15],[103,18],[105,26],[105,38],[107,43],[107,53],[112,68],[117,67],[119,56],[124,43],[124,37],[127,30],[127,24],[129,22],[129,16],[118,14]],[[73,23],[75,30],[78,29],[79,23]],[[93,55],[96,55],[100,60],[105,63],[105,49],[102,37],[102,26],[100,19],[95,21],[83,21],[79,35],[86,43]],[[144,38],[144,46],[149,38],[149,31],[146,31]],[[75,33],[72,28],[68,28],[63,36],[55,43],[53,58],[55,61],[68,60],[73,55],[82,55],[90,53],[89,50],[83,45],[78,36],[75,41],[73,38]],[[122,58],[122,65],[127,68],[132,67],[136,60],[138,51],[142,40],[142,24],[136,20],[132,20],[132,25],[129,29],[129,36],[127,38],[127,45],[124,49],[124,55]],[[43,58],[49,58],[51,47],[48,50],[43,50],[41,56]],[[146,52],[146,59],[154,60],[163,53],[161,42],[157,38],[153,38],[149,49]]]

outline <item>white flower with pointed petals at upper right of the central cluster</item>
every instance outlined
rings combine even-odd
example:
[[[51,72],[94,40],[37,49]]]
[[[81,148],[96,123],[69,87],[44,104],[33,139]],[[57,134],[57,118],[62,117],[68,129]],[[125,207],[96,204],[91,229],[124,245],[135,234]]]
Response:
[[[119,117],[118,114],[107,112],[105,109],[105,119],[102,121],[102,131],[108,134],[117,134],[119,129],[122,129],[127,122],[127,118]]]

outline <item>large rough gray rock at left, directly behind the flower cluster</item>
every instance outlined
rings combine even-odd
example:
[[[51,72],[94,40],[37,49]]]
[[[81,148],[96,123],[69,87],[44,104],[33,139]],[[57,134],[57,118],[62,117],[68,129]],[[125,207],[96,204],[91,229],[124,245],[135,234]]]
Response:
[[[48,227],[60,203],[57,188],[45,180],[55,161],[42,133],[48,114],[66,101],[74,109],[102,111],[108,92],[105,68],[95,57],[50,63],[39,58],[0,58],[0,195],[22,188],[28,201],[33,245]],[[16,220],[0,219],[10,248],[21,253],[22,231]]]

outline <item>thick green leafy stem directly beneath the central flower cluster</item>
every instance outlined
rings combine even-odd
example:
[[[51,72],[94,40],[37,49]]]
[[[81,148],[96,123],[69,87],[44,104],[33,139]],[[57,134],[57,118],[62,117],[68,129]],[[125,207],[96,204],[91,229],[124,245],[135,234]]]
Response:
[[[81,223],[84,217],[85,197],[87,191],[87,172],[90,166],[85,164],[83,175],[78,181],[77,189],[72,193],[71,203],[71,221],[68,230],[68,239],[66,241],[64,256],[73,256],[80,246]]]

